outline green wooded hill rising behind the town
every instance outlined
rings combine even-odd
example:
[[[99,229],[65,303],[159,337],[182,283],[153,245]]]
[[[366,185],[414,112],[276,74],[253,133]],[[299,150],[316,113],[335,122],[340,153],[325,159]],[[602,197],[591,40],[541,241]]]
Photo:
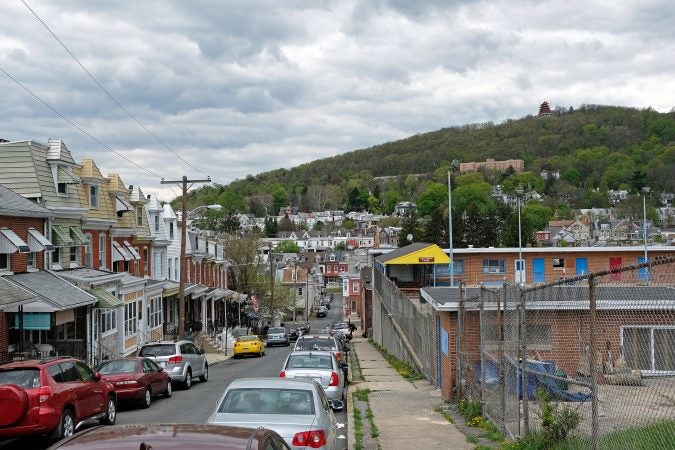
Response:
[[[660,192],[675,191],[675,112],[582,105],[555,108],[550,117],[449,127],[292,169],[249,175],[228,186],[206,186],[190,192],[188,203],[217,202],[230,212],[256,215],[287,205],[301,211],[367,209],[388,214],[398,201],[419,203],[430,187],[447,185],[452,160],[487,158],[522,159],[527,174],[482,172],[482,180],[465,179],[465,184],[502,184],[505,192],[516,183],[526,184],[526,189],[544,195],[549,206],[562,202],[570,208],[607,207],[608,190],[636,193],[649,186],[656,204]],[[542,180],[544,170],[560,178]]]

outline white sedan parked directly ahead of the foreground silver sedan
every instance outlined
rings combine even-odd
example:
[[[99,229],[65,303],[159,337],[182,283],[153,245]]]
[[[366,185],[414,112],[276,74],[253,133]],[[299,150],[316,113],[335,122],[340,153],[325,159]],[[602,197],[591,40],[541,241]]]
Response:
[[[345,399],[344,363],[330,351],[291,352],[281,366],[279,378],[315,380],[331,400]]]

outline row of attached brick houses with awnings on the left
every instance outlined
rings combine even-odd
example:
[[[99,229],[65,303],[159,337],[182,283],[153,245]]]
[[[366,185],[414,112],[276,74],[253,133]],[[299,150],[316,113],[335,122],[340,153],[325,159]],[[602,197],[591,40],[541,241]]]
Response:
[[[169,205],[92,159],[76,163],[60,139],[0,141],[0,187],[22,199],[0,221],[0,359],[49,348],[97,362],[175,332],[180,230]],[[234,293],[222,246],[205,247],[188,251],[188,279],[224,303]]]

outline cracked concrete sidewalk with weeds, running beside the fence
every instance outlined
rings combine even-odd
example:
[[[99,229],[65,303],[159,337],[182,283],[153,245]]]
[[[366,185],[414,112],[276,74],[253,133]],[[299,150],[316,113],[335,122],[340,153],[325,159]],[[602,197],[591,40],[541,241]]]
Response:
[[[453,424],[435,411],[443,399],[427,380],[405,380],[365,338],[355,337],[351,345],[366,381],[352,380],[350,391],[370,390],[368,403],[380,448],[473,448]]]

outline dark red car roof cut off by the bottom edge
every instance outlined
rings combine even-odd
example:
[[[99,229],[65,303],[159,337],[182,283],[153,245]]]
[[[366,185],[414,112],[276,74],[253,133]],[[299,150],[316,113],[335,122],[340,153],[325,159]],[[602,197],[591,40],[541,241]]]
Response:
[[[268,428],[205,424],[133,424],[95,427],[59,441],[48,450],[209,449],[290,450],[278,433]]]

